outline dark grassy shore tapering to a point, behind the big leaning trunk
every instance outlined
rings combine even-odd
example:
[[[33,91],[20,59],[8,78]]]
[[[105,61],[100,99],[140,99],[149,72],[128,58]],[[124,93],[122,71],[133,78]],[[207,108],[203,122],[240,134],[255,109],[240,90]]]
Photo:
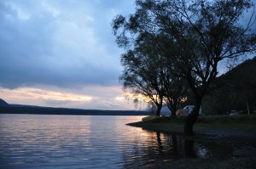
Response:
[[[204,119],[202,117],[195,123],[194,132],[195,136],[200,135],[215,135],[218,137],[229,137],[229,136],[239,136],[239,137],[253,137],[256,138],[256,115],[252,115],[252,120],[248,120],[246,115],[242,116],[231,116],[234,121],[215,121],[212,119]],[[207,117],[208,118],[208,117]],[[212,117],[209,117],[212,118]],[[215,117],[213,117],[215,118]],[[222,116],[218,117],[222,118]],[[224,116],[224,118],[229,118]],[[243,118],[236,119],[236,118]],[[168,121],[169,120],[169,121]],[[177,120],[177,121],[176,121]],[[149,121],[137,121],[126,124],[131,127],[141,127],[145,130],[155,131],[155,132],[175,132],[183,133],[184,118],[168,119],[168,117],[160,117]]]

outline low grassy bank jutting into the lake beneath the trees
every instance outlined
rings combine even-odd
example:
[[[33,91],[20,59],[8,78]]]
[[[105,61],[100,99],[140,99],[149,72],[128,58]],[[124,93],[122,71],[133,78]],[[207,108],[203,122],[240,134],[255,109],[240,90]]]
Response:
[[[160,132],[183,132],[184,117],[159,117],[127,125]],[[256,132],[256,115],[212,115],[199,116],[195,132],[238,133]]]

